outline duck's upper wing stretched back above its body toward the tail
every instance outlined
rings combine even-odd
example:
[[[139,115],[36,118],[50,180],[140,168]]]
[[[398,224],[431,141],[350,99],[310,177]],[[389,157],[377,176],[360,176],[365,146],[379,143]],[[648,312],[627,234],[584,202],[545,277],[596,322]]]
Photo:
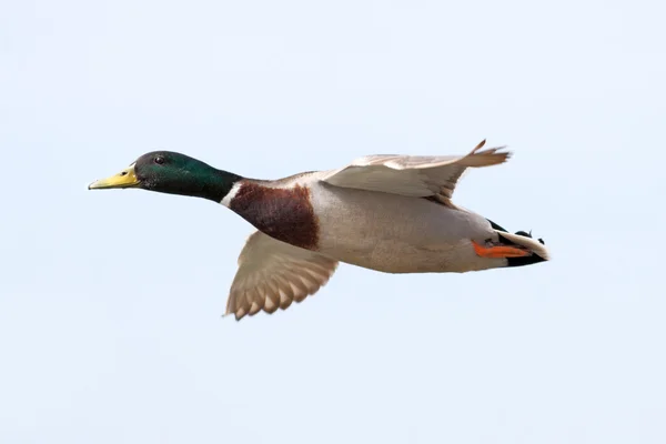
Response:
[[[504,147],[482,150],[484,144],[485,140],[462,157],[367,155],[325,173],[321,180],[335,186],[414,198],[436,196],[446,203],[467,168],[496,165],[511,157],[509,152],[500,151]]]

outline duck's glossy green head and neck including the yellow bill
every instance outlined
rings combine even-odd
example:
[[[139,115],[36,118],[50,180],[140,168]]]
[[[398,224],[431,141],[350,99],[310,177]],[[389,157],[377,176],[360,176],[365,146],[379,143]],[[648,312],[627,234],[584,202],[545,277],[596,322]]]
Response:
[[[143,154],[120,173],[91,183],[88,189],[140,188],[220,202],[240,179],[240,175],[218,170],[189,155],[153,151]]]

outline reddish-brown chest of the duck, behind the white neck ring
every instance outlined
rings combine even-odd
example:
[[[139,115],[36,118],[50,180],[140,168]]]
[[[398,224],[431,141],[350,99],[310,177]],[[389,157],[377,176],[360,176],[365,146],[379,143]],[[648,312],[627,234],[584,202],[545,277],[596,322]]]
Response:
[[[282,242],[307,250],[319,246],[319,223],[305,186],[282,189],[243,183],[230,209]]]

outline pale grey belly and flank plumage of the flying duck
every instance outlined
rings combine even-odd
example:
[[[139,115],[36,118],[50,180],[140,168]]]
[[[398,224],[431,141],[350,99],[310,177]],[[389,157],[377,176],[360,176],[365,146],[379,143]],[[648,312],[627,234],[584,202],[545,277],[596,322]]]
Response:
[[[497,241],[490,222],[426,199],[329,185],[301,178],[319,219],[319,252],[389,273],[466,272],[504,266],[471,241]]]

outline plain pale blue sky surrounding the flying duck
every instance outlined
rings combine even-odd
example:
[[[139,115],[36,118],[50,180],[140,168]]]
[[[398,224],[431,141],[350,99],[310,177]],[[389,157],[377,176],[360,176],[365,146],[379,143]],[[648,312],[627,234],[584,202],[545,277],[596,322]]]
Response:
[[[666,442],[658,1],[0,1],[0,442]],[[341,265],[222,319],[252,228],[87,184],[508,144],[455,200],[553,261]]]

